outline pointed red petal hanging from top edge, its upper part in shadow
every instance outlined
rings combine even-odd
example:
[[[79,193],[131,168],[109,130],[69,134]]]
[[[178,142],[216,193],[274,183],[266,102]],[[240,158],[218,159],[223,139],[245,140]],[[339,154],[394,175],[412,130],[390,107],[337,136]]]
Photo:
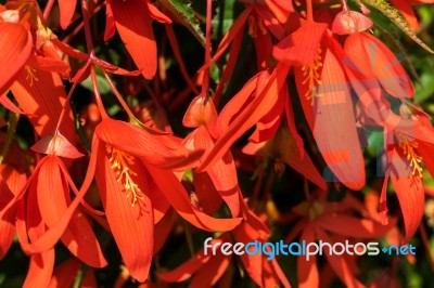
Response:
[[[146,79],[156,73],[156,43],[146,1],[108,1],[117,31],[137,67]],[[143,53],[145,51],[145,53]]]

